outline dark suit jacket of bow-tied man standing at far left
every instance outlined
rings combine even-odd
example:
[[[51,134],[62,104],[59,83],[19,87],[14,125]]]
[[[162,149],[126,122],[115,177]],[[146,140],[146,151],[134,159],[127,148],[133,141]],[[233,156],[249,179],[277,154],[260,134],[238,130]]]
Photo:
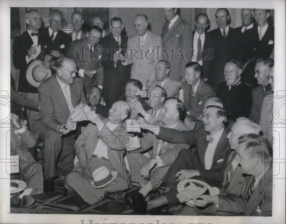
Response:
[[[41,45],[41,53],[35,60],[44,60],[47,54],[47,49],[45,48],[48,40],[47,38],[39,34],[38,36],[38,46]],[[16,36],[13,43],[13,65],[16,69],[19,69],[19,92],[33,92],[37,93],[38,88],[32,86],[26,79],[26,71],[29,64],[33,61],[31,60],[28,64],[26,61],[26,55],[28,55],[28,50],[33,45],[33,41],[28,31],[25,31],[20,36]]]

